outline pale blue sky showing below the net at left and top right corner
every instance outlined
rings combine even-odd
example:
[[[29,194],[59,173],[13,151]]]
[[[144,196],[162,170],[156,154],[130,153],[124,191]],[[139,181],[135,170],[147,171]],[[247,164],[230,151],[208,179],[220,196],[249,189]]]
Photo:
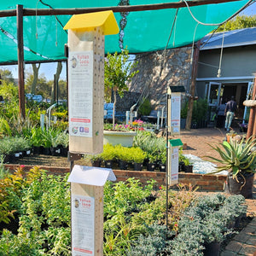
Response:
[[[251,4],[247,9],[241,11],[239,15],[256,15],[256,3]],[[66,63],[62,62],[62,71],[60,79],[66,80]],[[42,63],[39,68],[39,76],[44,76],[47,80],[53,80],[56,72],[57,63]],[[0,66],[1,69],[9,69],[15,79],[18,78],[17,66]],[[26,65],[25,73],[32,73],[32,65]]]

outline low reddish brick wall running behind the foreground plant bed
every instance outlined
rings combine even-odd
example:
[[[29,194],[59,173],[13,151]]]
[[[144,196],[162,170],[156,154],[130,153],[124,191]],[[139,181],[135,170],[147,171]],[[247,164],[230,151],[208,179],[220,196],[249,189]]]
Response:
[[[15,170],[19,165],[5,165],[10,171]],[[28,171],[32,166],[24,166],[24,170]],[[49,174],[61,175],[70,172],[70,168],[63,167],[51,167],[51,166],[39,166],[40,168],[49,171]],[[140,179],[143,185],[147,184],[147,181],[154,179],[157,182],[157,186],[166,184],[166,172],[146,172],[146,171],[125,171],[125,170],[113,170],[117,177],[117,182],[125,181],[129,177],[135,177]],[[226,175],[207,175],[196,173],[179,172],[179,183],[191,184],[193,187],[198,186],[199,191],[223,191]],[[175,189],[177,186],[172,186]]]

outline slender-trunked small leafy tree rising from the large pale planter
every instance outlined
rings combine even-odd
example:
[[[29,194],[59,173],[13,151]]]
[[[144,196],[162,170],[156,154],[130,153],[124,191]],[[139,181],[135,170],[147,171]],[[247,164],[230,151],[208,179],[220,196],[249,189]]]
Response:
[[[113,91],[113,128],[116,94],[124,96],[124,91],[128,90],[127,82],[130,82],[138,70],[137,62],[129,61],[129,51],[122,49],[121,53],[115,52],[107,55],[105,59],[105,101],[110,102]]]

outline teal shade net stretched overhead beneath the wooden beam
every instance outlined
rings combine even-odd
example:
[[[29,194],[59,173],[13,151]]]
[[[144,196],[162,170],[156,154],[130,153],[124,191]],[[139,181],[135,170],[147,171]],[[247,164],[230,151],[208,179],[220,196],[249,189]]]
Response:
[[[172,1],[173,2],[173,1]],[[130,5],[170,3],[170,1],[140,0],[130,1]],[[216,24],[234,15],[248,1],[207,4],[191,7],[195,19],[202,23]],[[16,9],[21,4],[26,9],[74,9],[115,7],[119,1],[113,0],[23,0],[1,1],[1,10]],[[119,24],[122,16],[114,13]],[[24,59],[25,61],[57,61],[65,59],[64,45],[67,44],[67,31],[63,30],[71,15],[24,16]],[[134,11],[126,15],[122,46],[130,54],[160,49],[181,47],[198,41],[217,26],[199,24],[187,7],[180,9],[160,9]],[[175,21],[174,21],[175,20]],[[121,28],[119,26],[119,28]],[[172,32],[172,33],[171,33]],[[170,36],[171,34],[171,36]],[[17,61],[16,17],[0,18],[0,63]],[[105,52],[119,52],[119,34],[105,37]]]

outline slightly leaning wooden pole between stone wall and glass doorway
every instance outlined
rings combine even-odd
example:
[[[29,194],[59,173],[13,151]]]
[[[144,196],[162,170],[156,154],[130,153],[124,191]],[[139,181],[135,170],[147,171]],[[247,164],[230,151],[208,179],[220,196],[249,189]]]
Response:
[[[193,54],[189,106],[188,106],[188,114],[187,114],[186,127],[185,127],[186,130],[190,130],[190,127],[191,127],[193,104],[194,104],[194,97],[195,97],[195,79],[197,75],[200,44],[201,44],[201,41],[198,41],[197,44],[195,44],[195,50]]]

